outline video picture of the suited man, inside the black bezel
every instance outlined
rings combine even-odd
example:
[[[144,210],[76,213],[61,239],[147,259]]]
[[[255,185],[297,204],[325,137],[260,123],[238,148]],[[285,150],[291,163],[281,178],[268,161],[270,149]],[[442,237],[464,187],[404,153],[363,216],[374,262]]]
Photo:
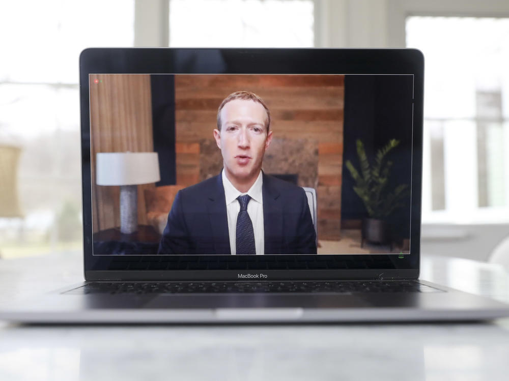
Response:
[[[412,75],[90,75],[94,255],[409,253]]]

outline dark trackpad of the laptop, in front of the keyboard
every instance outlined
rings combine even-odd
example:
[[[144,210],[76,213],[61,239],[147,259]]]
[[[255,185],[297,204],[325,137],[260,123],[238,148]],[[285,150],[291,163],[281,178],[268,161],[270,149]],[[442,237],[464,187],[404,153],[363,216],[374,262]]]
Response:
[[[359,308],[370,304],[352,295],[168,295],[157,296],[144,308]]]

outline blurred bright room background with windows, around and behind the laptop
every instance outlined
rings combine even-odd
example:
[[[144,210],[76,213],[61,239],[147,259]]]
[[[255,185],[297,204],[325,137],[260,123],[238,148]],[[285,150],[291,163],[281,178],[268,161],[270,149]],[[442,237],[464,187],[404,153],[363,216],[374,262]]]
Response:
[[[86,47],[414,47],[426,57],[422,252],[487,260],[509,236],[509,2],[0,3],[0,257],[81,251]]]

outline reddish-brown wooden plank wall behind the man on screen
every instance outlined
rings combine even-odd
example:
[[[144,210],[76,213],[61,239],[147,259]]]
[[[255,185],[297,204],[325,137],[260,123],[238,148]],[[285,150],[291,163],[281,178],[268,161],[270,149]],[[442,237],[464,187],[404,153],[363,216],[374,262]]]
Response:
[[[318,141],[319,239],[338,240],[341,226],[342,75],[176,75],[177,184],[200,180],[200,141],[213,139],[217,108],[247,90],[264,99],[274,136]]]

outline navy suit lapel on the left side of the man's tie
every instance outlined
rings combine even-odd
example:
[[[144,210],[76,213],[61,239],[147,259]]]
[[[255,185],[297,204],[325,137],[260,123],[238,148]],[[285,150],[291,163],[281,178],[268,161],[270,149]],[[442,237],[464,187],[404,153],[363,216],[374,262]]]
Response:
[[[209,215],[210,226],[212,227],[212,237],[214,238],[214,248],[216,254],[231,254],[230,236],[228,233],[228,217],[226,212],[226,199],[224,198],[224,187],[222,185],[221,174],[216,176],[215,187],[207,196],[207,212]]]

